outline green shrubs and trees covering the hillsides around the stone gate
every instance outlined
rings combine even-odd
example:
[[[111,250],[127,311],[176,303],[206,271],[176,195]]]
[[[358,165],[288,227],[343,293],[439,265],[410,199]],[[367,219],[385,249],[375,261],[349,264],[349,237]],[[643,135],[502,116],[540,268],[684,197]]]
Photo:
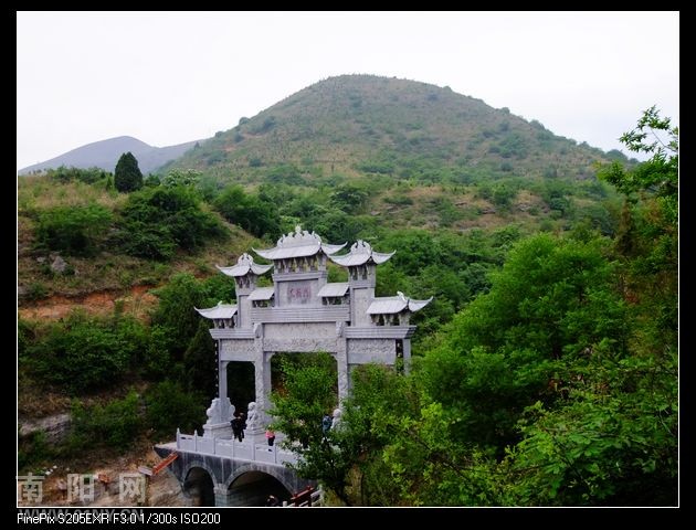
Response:
[[[348,107],[324,107],[329,117],[376,116],[369,87],[354,85]],[[349,155],[310,160],[303,149],[326,147],[315,136],[336,149],[341,138],[285,136],[304,121],[281,110],[307,94],[328,97],[331,86],[303,91],[156,173],[143,176],[130,156],[114,174],[22,177],[19,413],[70,410],[73,428],[60,444],[21,437],[20,471],[200,427],[215,362],[192,308],[233,301],[215,264],[300,223],[331,243],[361,237],[397,250],[378,269],[378,295],[435,296],[413,321],[412,372],[358,371],[329,443],[320,424],[336,400],[330,363],[315,356],[281,367],[276,426],[310,441],[298,469],[334,502],[675,505],[678,130],[669,119],[648,109],[622,137],[651,157],[636,163],[473,99],[458,113],[477,108],[489,134],[465,127],[460,138],[449,107],[425,119],[446,89],[419,87],[421,100],[398,84],[382,92],[409,104],[418,95],[420,128],[397,121],[372,141],[375,124],[361,124],[351,138],[368,139]],[[446,97],[456,106],[464,96]],[[415,132],[397,138],[404,130]],[[454,140],[441,144],[447,135]],[[295,147],[276,152],[286,140]],[[331,268],[329,279],[344,274]],[[138,287],[154,294],[145,306],[115,295],[107,309],[29,312],[56,297]],[[238,405],[249,401],[246,375],[230,384]]]

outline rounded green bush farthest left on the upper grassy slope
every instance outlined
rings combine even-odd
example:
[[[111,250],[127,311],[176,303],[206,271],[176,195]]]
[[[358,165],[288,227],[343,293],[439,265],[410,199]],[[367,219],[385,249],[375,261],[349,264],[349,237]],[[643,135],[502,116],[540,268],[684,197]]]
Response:
[[[38,218],[39,246],[76,256],[93,255],[112,222],[112,213],[99,204],[52,208]]]

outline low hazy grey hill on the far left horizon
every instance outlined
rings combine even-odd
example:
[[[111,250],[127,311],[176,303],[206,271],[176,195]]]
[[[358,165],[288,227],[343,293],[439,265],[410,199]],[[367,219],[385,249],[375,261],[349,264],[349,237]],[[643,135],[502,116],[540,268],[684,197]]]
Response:
[[[138,159],[138,167],[144,174],[158,169],[170,160],[179,158],[189,150],[196,141],[187,141],[178,146],[152,147],[131,136],[119,136],[108,140],[95,141],[86,146],[67,151],[59,157],[20,169],[19,173],[31,173],[42,169],[60,166],[76,168],[101,168],[114,171],[118,158],[130,151]]]

